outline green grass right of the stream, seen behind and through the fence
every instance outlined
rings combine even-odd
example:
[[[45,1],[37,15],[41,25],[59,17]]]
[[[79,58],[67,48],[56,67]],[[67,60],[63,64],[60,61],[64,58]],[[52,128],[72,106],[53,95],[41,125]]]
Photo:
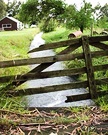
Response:
[[[98,30],[100,30],[100,29],[98,29]],[[67,30],[66,28],[57,28],[56,31],[54,31],[54,32],[45,33],[43,35],[43,38],[45,39],[46,43],[67,40],[68,34],[71,32],[72,32],[71,30]],[[83,35],[90,35],[90,30],[85,30]],[[62,49],[64,49],[64,48],[57,48],[57,49],[55,49],[55,52],[57,52],[57,53],[61,52]],[[95,47],[90,47],[90,50],[94,51],[94,50],[98,50],[98,49]],[[74,51],[74,53],[81,53],[81,52],[82,52],[82,47],[80,47]],[[93,65],[106,64],[106,63],[108,63],[107,57],[93,59]],[[65,62],[65,65],[68,68],[84,67],[85,62],[83,60],[75,59],[73,61]],[[103,78],[103,77],[106,77],[106,78],[108,77],[108,71],[95,72],[96,79]],[[79,76],[79,78],[77,78],[77,79],[78,80],[86,80],[86,78],[87,78],[87,76],[84,74],[84,75]],[[107,84],[101,85],[98,87],[101,90],[108,90]],[[108,95],[106,95],[102,98],[98,98],[96,100],[96,103],[98,103],[98,105],[101,106],[101,108],[103,110],[108,110]]]

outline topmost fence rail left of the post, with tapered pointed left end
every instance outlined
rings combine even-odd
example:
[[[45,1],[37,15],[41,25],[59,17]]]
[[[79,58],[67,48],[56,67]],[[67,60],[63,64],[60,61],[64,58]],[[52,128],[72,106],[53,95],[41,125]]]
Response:
[[[59,47],[66,47],[66,46],[76,46],[80,47],[80,38],[78,39],[71,39],[71,40],[66,40],[66,41],[60,41],[60,42],[54,42],[54,43],[47,43],[40,45],[38,48],[34,48],[30,50],[28,53],[32,52],[37,52],[37,51],[44,51],[44,50],[49,50],[49,49],[56,49]]]

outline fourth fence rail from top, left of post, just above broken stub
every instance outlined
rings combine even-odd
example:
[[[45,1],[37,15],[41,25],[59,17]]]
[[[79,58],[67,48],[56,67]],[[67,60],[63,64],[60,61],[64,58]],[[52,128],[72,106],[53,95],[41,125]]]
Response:
[[[22,89],[22,90],[8,90],[6,92],[7,96],[24,96],[24,95],[32,95],[32,94],[40,94],[40,93],[48,93],[48,92],[54,92],[54,91],[62,91],[62,90],[68,90],[68,89],[74,89],[74,88],[86,88],[88,87],[87,81],[79,81],[79,82],[73,82],[68,84],[60,84],[60,85],[52,85],[52,86],[45,86],[45,87],[39,87],[39,88],[28,88],[28,89]]]

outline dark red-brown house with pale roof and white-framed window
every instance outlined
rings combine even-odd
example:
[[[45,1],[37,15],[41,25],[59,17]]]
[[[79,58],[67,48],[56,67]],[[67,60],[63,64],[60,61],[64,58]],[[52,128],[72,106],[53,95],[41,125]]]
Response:
[[[23,29],[23,23],[19,20],[6,16],[3,19],[0,20],[0,29],[11,31],[11,30],[21,30]]]

